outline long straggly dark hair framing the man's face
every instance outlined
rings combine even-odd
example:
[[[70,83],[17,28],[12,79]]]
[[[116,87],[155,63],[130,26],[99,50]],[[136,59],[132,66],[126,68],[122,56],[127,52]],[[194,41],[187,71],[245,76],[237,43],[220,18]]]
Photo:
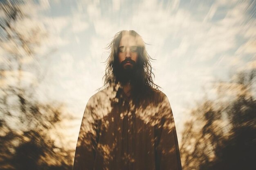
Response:
[[[116,84],[116,68],[118,63],[118,53],[119,53],[119,43],[121,41],[122,35],[128,34],[134,36],[139,42],[141,42],[140,46],[138,46],[138,61],[137,64],[139,65],[139,70],[141,70],[141,83],[140,86],[143,86],[146,89],[150,90],[159,90],[159,86],[153,82],[153,78],[155,77],[154,73],[152,72],[152,66],[150,61],[153,59],[148,55],[145,42],[142,40],[141,36],[133,30],[123,30],[119,31],[113,37],[113,40],[108,44],[107,48],[110,50],[110,55],[106,60],[106,72],[103,77],[104,79],[104,87],[107,87],[110,84]],[[143,89],[143,88],[142,88]]]

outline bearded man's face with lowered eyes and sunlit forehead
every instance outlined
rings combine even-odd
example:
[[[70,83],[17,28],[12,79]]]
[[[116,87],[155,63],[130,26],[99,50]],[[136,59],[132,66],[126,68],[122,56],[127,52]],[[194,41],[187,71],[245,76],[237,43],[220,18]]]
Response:
[[[118,60],[124,68],[133,68],[138,60],[138,43],[134,36],[123,35],[119,43]]]

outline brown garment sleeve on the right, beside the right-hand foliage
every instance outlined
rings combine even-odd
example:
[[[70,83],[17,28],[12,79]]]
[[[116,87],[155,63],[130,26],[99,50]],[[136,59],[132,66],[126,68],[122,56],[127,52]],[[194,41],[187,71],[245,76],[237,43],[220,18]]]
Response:
[[[155,126],[155,169],[182,170],[173,113],[166,95],[159,104],[159,123]]]

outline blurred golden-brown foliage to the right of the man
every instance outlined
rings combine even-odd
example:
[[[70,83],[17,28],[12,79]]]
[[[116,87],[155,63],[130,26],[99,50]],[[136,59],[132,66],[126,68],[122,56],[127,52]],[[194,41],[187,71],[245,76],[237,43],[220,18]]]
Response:
[[[256,169],[256,70],[218,82],[216,99],[191,110],[180,147],[183,170]]]

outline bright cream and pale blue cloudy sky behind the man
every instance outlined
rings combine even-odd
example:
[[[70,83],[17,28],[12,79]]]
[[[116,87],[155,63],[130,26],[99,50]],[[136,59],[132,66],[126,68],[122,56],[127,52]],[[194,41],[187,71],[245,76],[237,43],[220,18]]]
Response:
[[[256,68],[254,0],[29,0],[22,9],[30,18],[20,29],[38,26],[46,35],[34,59],[45,73],[38,98],[67,105],[77,118],[74,141],[88,99],[103,85],[106,46],[121,30],[147,43],[179,140],[189,110],[214,96],[215,82]]]

